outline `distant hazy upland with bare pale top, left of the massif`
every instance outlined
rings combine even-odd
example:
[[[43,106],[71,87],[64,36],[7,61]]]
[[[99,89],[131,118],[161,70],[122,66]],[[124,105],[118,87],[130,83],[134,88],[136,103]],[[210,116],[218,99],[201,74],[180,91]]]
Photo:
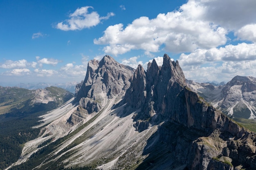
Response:
[[[37,104],[49,104],[59,106],[74,95],[65,89],[58,87],[46,87],[44,89],[28,90],[18,87],[0,86],[0,114],[8,113],[12,108],[20,109],[24,106],[34,106]]]

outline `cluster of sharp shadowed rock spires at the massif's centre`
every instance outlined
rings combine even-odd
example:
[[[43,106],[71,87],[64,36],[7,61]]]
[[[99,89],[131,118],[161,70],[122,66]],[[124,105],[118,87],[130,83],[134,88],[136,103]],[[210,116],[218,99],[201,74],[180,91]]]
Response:
[[[128,106],[143,110],[134,117],[135,121],[139,120],[135,125],[136,129],[143,131],[148,127],[150,117],[159,119],[167,114],[166,108],[172,104],[166,101],[171,99],[171,95],[178,94],[184,85],[185,76],[179,63],[172,61],[167,54],[164,55],[162,67],[153,60],[148,63],[145,72],[139,65],[125,95]]]

